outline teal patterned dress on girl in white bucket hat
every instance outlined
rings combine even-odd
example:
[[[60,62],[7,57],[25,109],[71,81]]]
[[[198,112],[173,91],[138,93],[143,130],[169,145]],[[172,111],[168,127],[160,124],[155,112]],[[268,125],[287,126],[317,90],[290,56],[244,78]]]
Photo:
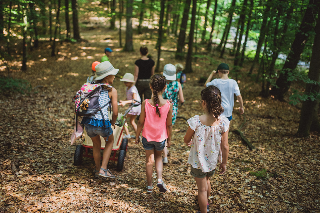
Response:
[[[167,88],[164,90],[162,97],[164,99],[172,99],[172,125],[176,123],[178,113],[178,93],[179,84],[178,81],[167,82]]]

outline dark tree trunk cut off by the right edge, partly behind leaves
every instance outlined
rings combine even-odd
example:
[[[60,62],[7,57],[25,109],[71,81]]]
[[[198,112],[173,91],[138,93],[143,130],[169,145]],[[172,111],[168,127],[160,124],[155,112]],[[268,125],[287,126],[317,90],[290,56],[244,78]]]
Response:
[[[312,56],[310,60],[310,68],[308,77],[310,80],[320,81],[320,8],[318,11],[318,19],[316,21],[316,35],[312,47]],[[306,93],[319,95],[320,87],[318,84],[307,84]],[[320,132],[320,125],[318,120],[318,106],[319,99],[308,99],[302,103],[302,110],[300,116],[300,123],[297,135],[308,137],[310,134],[311,125],[316,127],[314,130]]]

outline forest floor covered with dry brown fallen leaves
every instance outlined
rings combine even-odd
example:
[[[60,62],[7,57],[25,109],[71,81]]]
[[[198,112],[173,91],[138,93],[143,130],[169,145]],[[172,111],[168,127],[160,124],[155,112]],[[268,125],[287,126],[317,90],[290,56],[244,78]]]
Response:
[[[58,45],[56,57],[50,56],[51,43],[41,42],[28,57],[27,72],[18,69],[20,58],[10,63],[12,76],[30,81],[33,89],[25,95],[1,94],[0,212],[196,212],[197,186],[187,164],[189,147],[183,137],[188,124],[184,119],[179,118],[173,126],[169,163],[163,169],[166,193],[157,188],[146,193],[145,151],[133,140],[123,171],[116,171],[115,161],[108,164],[116,179],[94,177],[92,158],[83,158],[81,166],[73,165],[75,145],[83,139],[70,145],[74,124],[71,98],[89,76],[92,62],[100,61],[104,48],[111,47],[110,61],[120,69],[120,77],[133,73],[141,45],[147,45],[156,58],[156,39],[149,33],[134,35],[134,52],[122,51],[116,31],[84,28],[81,35],[83,42]],[[174,48],[173,39],[164,43],[160,70],[167,63],[184,64],[174,59]],[[187,119],[203,113],[197,103],[203,88],[199,79],[220,62],[230,68],[233,64],[232,58],[219,59],[200,51],[203,57],[193,63],[193,73],[187,74],[186,101],[179,106],[178,116]],[[1,76],[6,76],[4,66],[0,68]],[[319,133],[295,137],[300,110],[272,97],[260,97],[260,85],[248,78],[247,72],[243,68],[237,77],[246,119],[241,131],[256,149],[247,148],[233,132],[244,122],[235,103],[227,172],[216,172],[211,178],[211,212],[320,212]],[[124,100],[125,86],[118,77],[113,86],[119,100]],[[153,178],[156,181],[155,172]]]

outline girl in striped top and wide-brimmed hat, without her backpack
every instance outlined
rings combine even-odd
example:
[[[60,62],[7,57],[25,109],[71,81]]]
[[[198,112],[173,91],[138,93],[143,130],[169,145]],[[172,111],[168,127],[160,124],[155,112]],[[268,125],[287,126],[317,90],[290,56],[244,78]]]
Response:
[[[99,105],[100,107],[108,104],[106,107],[102,108],[101,111],[103,113],[104,119],[105,119],[105,125],[103,126],[103,118],[100,114],[100,112],[94,114],[90,117],[83,117],[81,124],[84,125],[85,131],[87,132],[88,136],[91,138],[93,146],[92,146],[92,153],[95,163],[95,171],[94,175],[105,177],[105,178],[115,178],[115,176],[111,173],[110,170],[108,170],[108,162],[109,157],[112,151],[113,146],[113,130],[111,128],[111,125],[115,126],[116,119],[118,117],[118,93],[117,90],[114,87],[111,87],[110,84],[113,83],[113,80],[115,79],[116,73],[119,71],[119,69],[115,69],[110,62],[105,61],[100,64],[98,64],[96,67],[97,72],[97,78],[94,80],[101,84],[103,89],[99,96]],[[108,107],[109,105],[112,105],[112,118],[111,121],[109,121],[108,118]],[[105,148],[103,150],[103,158],[102,158],[102,164],[100,167],[100,147],[101,147],[101,140],[100,136],[104,138],[106,141]]]

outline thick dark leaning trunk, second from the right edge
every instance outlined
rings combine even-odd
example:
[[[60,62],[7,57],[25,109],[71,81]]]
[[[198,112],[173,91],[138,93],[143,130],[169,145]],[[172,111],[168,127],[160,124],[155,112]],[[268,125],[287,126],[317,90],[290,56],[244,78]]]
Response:
[[[289,73],[297,67],[300,60],[300,55],[303,52],[304,46],[307,43],[312,24],[314,22],[314,10],[319,8],[320,1],[314,3],[314,0],[309,0],[307,10],[303,16],[299,30],[296,32],[295,39],[291,45],[290,52],[282,68],[279,78],[276,80],[276,86],[272,87],[270,93],[278,100],[284,99],[284,94],[289,90],[291,82],[288,81]]]

